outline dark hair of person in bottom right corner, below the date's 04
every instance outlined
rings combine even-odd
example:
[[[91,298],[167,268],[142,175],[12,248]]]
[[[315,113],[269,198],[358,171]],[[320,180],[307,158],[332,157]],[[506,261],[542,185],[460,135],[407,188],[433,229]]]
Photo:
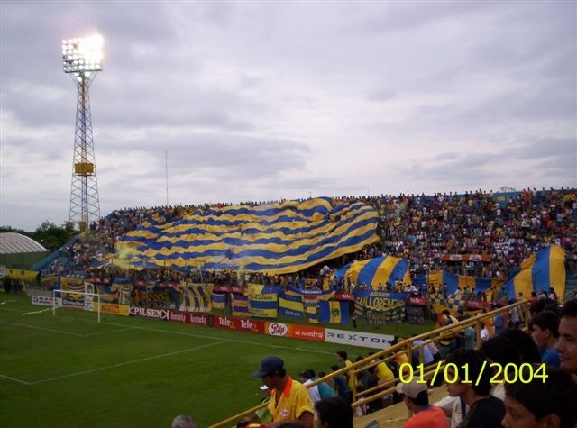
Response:
[[[537,421],[548,414],[556,414],[560,428],[574,428],[577,423],[577,383],[570,373],[551,366],[546,366],[546,379],[532,376],[535,368],[529,371],[524,365],[520,368],[529,383],[521,381],[505,383],[506,396],[517,400]],[[525,370],[525,371],[523,371]]]

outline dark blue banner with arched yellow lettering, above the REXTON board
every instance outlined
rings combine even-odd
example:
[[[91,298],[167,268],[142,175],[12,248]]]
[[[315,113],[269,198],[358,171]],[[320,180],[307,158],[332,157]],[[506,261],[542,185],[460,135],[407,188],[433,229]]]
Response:
[[[354,312],[368,324],[400,322],[405,319],[408,293],[354,290]]]

